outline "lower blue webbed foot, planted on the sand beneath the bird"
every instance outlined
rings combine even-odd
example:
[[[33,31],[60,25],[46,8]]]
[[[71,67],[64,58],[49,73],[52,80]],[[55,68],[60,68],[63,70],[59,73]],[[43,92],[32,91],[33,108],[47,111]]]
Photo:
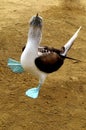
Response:
[[[38,86],[37,88],[31,88],[27,90],[26,95],[31,98],[37,98],[39,95],[40,87],[41,86]]]

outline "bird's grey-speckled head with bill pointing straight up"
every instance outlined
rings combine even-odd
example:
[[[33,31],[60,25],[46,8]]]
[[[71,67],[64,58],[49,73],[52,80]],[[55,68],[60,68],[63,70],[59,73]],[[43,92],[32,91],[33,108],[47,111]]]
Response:
[[[40,17],[37,13],[36,16],[33,16],[31,19],[30,19],[30,26],[33,26],[33,27],[40,27],[42,28],[42,17]]]

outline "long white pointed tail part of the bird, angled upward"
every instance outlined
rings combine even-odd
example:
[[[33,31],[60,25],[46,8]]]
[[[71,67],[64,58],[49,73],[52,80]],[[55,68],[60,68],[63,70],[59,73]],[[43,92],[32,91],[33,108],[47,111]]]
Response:
[[[61,56],[66,56],[67,52],[69,51],[69,49],[71,48],[71,46],[73,45],[75,39],[78,36],[78,33],[80,31],[81,27],[75,32],[75,34],[69,39],[69,41],[63,46],[64,51],[60,54]]]

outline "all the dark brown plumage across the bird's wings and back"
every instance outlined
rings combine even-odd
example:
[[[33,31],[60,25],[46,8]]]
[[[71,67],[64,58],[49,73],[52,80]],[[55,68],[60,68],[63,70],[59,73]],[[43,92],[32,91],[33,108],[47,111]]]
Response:
[[[25,49],[23,47],[22,51]],[[64,48],[55,49],[53,47],[39,47],[38,56],[35,59],[35,65],[37,68],[45,73],[52,73],[58,70],[64,63],[64,57],[60,54],[64,52]],[[39,54],[40,53],[40,54]]]

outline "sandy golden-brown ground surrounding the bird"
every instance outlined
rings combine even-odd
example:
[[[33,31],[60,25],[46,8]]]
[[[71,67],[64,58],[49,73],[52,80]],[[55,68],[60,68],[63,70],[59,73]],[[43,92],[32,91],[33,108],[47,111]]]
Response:
[[[37,79],[11,72],[7,59],[20,59],[28,21],[37,12],[44,19],[42,45],[60,48],[82,26],[68,53],[81,62],[65,60],[34,100],[25,91]],[[0,130],[86,130],[85,0],[0,0]]]

